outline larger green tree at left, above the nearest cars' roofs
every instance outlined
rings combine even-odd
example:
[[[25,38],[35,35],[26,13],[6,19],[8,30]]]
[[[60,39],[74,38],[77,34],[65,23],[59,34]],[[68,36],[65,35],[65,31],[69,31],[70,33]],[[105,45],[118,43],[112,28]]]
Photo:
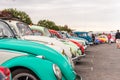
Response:
[[[25,22],[27,24],[32,24],[32,20],[29,17],[29,15],[27,15],[23,11],[18,11],[16,9],[9,8],[9,9],[4,9],[3,12],[11,13],[13,18],[18,18],[18,19],[20,19],[21,21],[23,21],[23,22]]]

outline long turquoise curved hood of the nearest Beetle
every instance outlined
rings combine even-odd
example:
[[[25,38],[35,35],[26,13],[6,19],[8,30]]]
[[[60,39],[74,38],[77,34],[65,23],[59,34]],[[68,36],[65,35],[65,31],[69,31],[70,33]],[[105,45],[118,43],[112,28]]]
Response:
[[[43,55],[46,60],[57,64],[62,74],[68,79],[75,79],[75,73],[69,62],[60,53],[43,44],[26,40],[0,39],[0,49],[15,50],[33,55]]]

